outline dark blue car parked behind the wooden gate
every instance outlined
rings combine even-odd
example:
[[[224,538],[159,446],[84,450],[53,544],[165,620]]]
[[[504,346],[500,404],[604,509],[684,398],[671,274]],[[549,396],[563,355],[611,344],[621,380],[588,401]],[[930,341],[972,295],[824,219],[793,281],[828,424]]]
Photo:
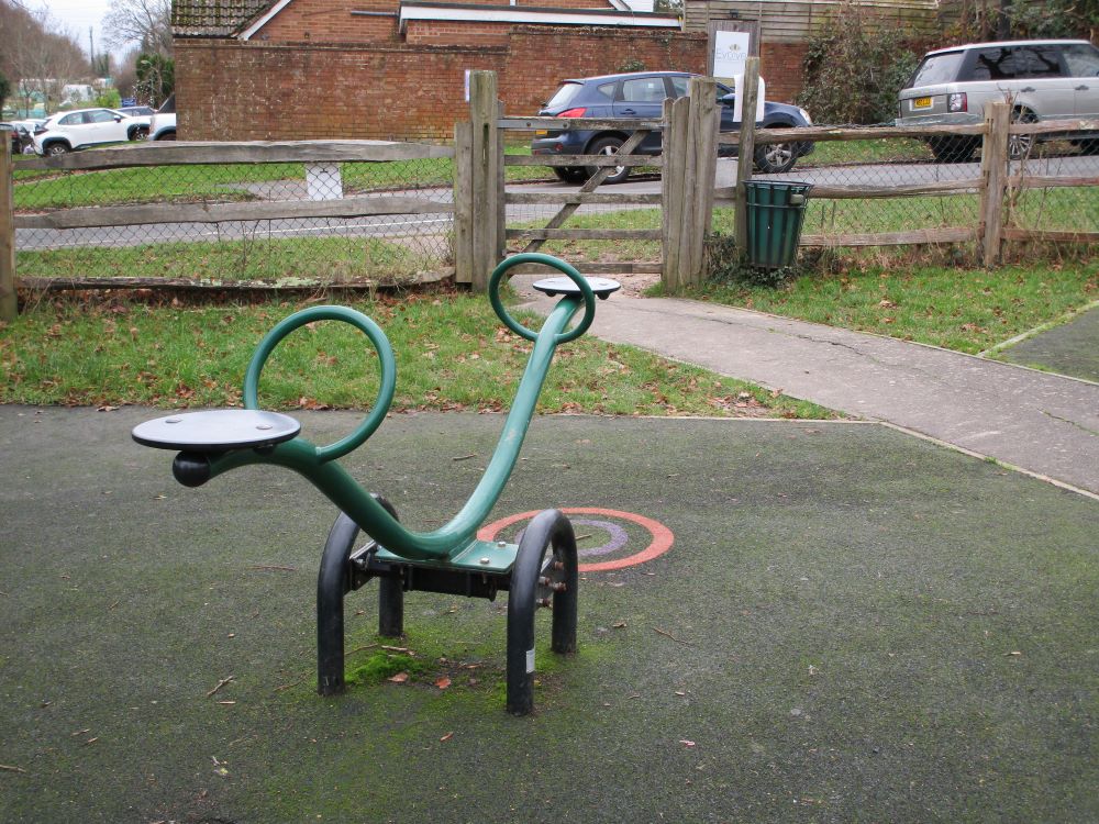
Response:
[[[681,98],[687,94],[687,85],[696,75],[686,71],[635,71],[628,75],[603,75],[576,80],[564,80],[560,88],[539,114],[550,118],[607,118],[623,120],[660,120],[665,98]],[[721,104],[721,131],[735,132],[741,127],[733,120],[735,94],[732,89],[718,83],[718,101]],[[804,109],[786,103],[764,103],[764,119],[757,123],[761,129],[793,129],[810,126],[812,121]],[[557,132],[554,130],[535,133],[531,143],[534,155],[613,155],[629,138],[630,132],[576,130]],[[799,157],[813,151],[807,141],[778,143],[756,147],[754,162],[759,171],[778,174],[789,170]],[[658,155],[660,133],[651,133],[636,149],[637,154]],[[722,156],[736,154],[735,146],[721,146]],[[582,182],[596,172],[596,167],[554,166],[554,174],[566,182]],[[607,178],[609,183],[620,183],[630,176],[629,166],[618,166]]]

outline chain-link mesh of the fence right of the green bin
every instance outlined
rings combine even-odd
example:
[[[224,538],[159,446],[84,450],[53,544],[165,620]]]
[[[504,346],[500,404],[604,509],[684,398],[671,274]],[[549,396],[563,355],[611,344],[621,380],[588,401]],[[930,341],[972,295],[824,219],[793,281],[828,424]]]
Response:
[[[812,151],[790,168],[753,176],[813,187],[802,245],[965,243],[963,231],[977,232],[985,179],[979,135],[879,138],[873,127],[818,130],[823,134],[812,142]],[[866,136],[830,140],[826,134],[854,130]],[[1051,242],[1094,241],[1074,236],[1099,232],[1099,141],[1012,134],[1008,157],[1007,198],[999,215],[1006,237],[1040,233]],[[719,160],[719,188],[735,183],[735,165]],[[732,234],[734,226],[735,210],[729,201],[719,202],[713,230]]]

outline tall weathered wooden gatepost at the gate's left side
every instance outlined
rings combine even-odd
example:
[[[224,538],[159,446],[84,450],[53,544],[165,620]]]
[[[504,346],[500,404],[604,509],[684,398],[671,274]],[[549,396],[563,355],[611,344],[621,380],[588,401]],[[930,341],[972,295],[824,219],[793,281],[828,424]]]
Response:
[[[502,175],[497,127],[496,73],[474,71],[469,77],[469,119],[473,127],[473,272],[474,291],[488,289],[488,278],[499,263],[499,179]]]

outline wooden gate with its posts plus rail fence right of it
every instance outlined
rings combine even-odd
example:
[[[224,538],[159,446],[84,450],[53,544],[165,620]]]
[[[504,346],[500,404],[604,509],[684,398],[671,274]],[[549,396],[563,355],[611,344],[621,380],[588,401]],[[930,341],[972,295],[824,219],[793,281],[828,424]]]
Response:
[[[744,110],[755,108],[757,58],[748,58],[745,78]],[[825,143],[829,141],[877,141],[882,138],[913,138],[926,141],[935,137],[969,137],[981,142],[979,174],[959,180],[940,180],[928,183],[880,186],[814,186],[814,201],[842,201],[852,199],[913,198],[921,196],[978,196],[979,218],[968,225],[912,229],[878,233],[841,233],[835,235],[804,234],[802,246],[855,247],[919,244],[975,243],[981,259],[992,266],[1000,261],[1004,241],[1064,241],[1076,243],[1099,242],[1099,232],[1054,232],[1024,230],[1007,224],[1009,210],[1004,202],[1025,190],[1057,187],[1099,186],[1099,175],[1076,177],[1035,176],[1026,171],[1026,164],[1010,162],[1010,135],[1054,135],[1070,132],[1099,132],[1094,121],[1047,121],[1043,123],[1012,123],[1007,103],[988,107],[984,123],[968,126],[908,126],[908,127],[809,127],[756,130],[745,123],[736,133],[719,133],[719,112],[712,79],[693,78],[688,97],[666,100],[659,121],[622,121],[590,118],[507,118],[500,113],[496,99],[496,78],[492,73],[474,73],[473,102],[470,104],[473,130],[479,143],[470,149],[460,149],[459,163],[466,169],[470,187],[476,193],[459,197],[471,199],[471,208],[463,218],[468,229],[458,229],[458,238],[469,238],[469,252],[457,255],[457,279],[475,288],[486,281],[492,266],[504,254],[508,240],[528,241],[525,250],[537,248],[547,240],[648,240],[659,241],[659,260],[584,263],[581,269],[590,274],[659,271],[669,289],[697,283],[706,278],[704,247],[711,233],[715,204],[732,204],[736,215],[736,245],[746,249],[746,197],[744,183],[752,179],[752,158],[757,145],[792,142]],[[504,155],[504,133],[509,130],[550,129],[613,130],[633,133],[613,157],[602,155]],[[634,155],[631,151],[641,138],[653,130],[663,132],[663,153],[658,156]],[[462,130],[459,129],[459,132]],[[737,146],[737,183],[714,188],[714,169],[721,145]],[[458,142],[458,145],[462,142]],[[554,192],[520,192],[504,189],[504,168],[508,166],[598,167],[599,172],[577,190]],[[647,166],[660,169],[662,187],[656,193],[597,192],[613,166]],[[473,191],[473,189],[470,189]],[[584,204],[659,205],[659,230],[569,229],[566,221]],[[540,229],[507,229],[504,208],[508,204],[556,204],[560,209]],[[479,210],[479,211],[478,211]],[[493,221],[495,215],[495,221]],[[467,263],[463,263],[463,260]],[[467,274],[468,272],[468,274]]]

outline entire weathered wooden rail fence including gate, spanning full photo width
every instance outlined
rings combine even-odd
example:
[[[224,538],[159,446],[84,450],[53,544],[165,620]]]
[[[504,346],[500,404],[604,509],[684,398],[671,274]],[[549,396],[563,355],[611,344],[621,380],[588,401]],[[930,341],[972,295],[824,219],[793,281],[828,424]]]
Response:
[[[750,58],[750,63],[755,58]],[[750,71],[743,91],[746,111],[755,97]],[[524,241],[533,250],[550,240],[644,240],[658,241],[658,260],[589,263],[586,271],[659,271],[665,285],[675,289],[699,282],[706,272],[706,240],[711,232],[715,203],[732,203],[737,219],[737,246],[746,244],[746,207],[743,183],[752,176],[754,146],[791,141],[870,141],[893,137],[979,137],[983,142],[979,176],[918,185],[815,186],[813,200],[910,198],[918,196],[979,196],[979,219],[972,225],[943,226],[888,233],[806,234],[806,246],[872,246],[898,244],[976,243],[984,261],[1000,260],[1006,241],[1044,240],[1096,243],[1099,232],[1024,230],[1008,225],[1003,208],[1007,199],[1036,188],[1096,187],[1099,175],[1077,177],[1035,176],[1025,164],[1009,163],[1009,135],[1048,135],[1065,132],[1099,132],[1099,122],[1056,121],[1011,123],[1008,105],[988,108],[985,122],[972,126],[922,126],[889,129],[830,129],[756,131],[746,123],[740,133],[718,131],[718,109],[712,79],[693,78],[688,97],[666,100],[659,121],[593,120],[557,118],[507,118],[497,99],[496,75],[475,71],[470,82],[469,120],[455,129],[454,147],[375,141],[303,141],[288,143],[156,143],[107,148],[35,158],[21,164],[24,169],[107,170],[138,166],[182,166],[196,164],[301,163],[310,166],[343,162],[391,162],[420,158],[454,158],[454,202],[432,197],[401,193],[369,193],[333,200],[286,200],[273,202],[153,203],[84,207],[41,214],[14,214],[12,209],[12,164],[7,143],[0,152],[0,320],[15,311],[14,231],[16,229],[84,229],[157,223],[220,223],[295,218],[359,218],[385,214],[453,214],[453,274],[459,283],[482,290],[488,275],[502,259],[507,242]],[[515,130],[621,130],[632,133],[613,156],[506,155],[506,134]],[[636,155],[644,135],[663,132],[663,154]],[[714,169],[722,144],[739,147],[737,185],[714,188]],[[586,166],[597,174],[578,189],[518,191],[504,187],[510,166]],[[597,191],[615,166],[645,166],[660,170],[660,191]],[[545,226],[508,229],[509,204],[553,204],[559,207]],[[585,204],[660,207],[660,229],[570,229],[568,219]],[[119,281],[111,281],[113,286]]]

